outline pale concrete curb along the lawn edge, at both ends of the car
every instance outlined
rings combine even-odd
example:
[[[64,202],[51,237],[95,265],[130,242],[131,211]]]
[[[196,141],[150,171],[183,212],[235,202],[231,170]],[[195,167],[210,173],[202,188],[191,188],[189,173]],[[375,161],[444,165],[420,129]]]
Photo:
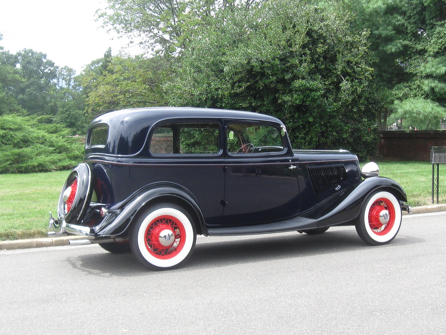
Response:
[[[424,214],[446,211],[446,204],[429,205],[413,207],[412,214]],[[403,215],[409,215],[403,212]],[[14,249],[29,249],[41,247],[56,247],[68,245],[68,241],[73,239],[86,239],[84,236],[64,236],[64,237],[49,237],[46,239],[17,239],[14,241],[0,241],[0,250],[14,250]]]

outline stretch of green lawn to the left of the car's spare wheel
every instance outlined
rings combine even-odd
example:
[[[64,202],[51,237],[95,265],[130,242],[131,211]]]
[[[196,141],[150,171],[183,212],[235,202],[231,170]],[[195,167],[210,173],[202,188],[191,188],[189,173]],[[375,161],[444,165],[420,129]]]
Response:
[[[69,173],[0,174],[0,240],[46,237]]]

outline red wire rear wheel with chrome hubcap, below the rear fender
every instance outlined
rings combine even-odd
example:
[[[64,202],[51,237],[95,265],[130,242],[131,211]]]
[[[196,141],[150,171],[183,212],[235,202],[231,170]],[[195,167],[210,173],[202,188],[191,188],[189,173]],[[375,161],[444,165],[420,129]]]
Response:
[[[146,248],[160,260],[178,255],[184,247],[185,239],[183,224],[170,215],[155,218],[145,230]]]

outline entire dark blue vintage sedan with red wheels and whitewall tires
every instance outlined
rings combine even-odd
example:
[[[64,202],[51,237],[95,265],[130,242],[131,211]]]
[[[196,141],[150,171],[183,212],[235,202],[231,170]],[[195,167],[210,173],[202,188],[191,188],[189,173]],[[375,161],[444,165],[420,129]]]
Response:
[[[346,150],[293,150],[285,125],[268,115],[124,109],[91,123],[85,160],[66,180],[48,234],[132,251],[154,270],[183,264],[197,234],[355,226],[380,245],[395,238],[410,206],[403,188],[378,173],[375,163],[360,171]]]

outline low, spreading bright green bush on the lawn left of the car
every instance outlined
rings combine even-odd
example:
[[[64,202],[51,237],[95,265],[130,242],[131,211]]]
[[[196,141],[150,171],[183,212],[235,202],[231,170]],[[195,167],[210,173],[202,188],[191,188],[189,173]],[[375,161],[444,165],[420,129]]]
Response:
[[[83,159],[83,143],[45,117],[0,116],[0,173],[69,169]]]

